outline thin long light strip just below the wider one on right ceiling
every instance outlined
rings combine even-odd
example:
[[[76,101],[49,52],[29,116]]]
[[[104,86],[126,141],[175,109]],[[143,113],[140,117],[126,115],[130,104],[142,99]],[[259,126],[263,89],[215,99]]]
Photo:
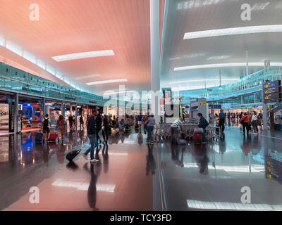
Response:
[[[248,63],[252,67],[264,67],[264,63]],[[282,63],[270,63],[271,66],[282,66]],[[207,68],[231,68],[231,67],[245,67],[247,63],[216,63],[207,65],[189,65],[174,68],[174,71],[180,70],[197,70],[197,69],[207,69]]]

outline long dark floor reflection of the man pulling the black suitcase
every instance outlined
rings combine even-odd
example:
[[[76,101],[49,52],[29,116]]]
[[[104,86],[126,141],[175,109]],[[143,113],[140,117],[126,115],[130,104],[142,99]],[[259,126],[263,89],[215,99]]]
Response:
[[[88,163],[85,163],[84,165],[84,169],[87,172],[90,172],[91,175],[91,179],[90,179],[90,184],[87,190],[87,200],[88,200],[88,204],[89,206],[92,208],[92,210],[97,211],[99,210],[96,207],[96,202],[97,202],[97,179],[98,176],[101,172],[101,163],[97,163],[97,164],[91,164],[90,165],[90,169],[88,168]]]

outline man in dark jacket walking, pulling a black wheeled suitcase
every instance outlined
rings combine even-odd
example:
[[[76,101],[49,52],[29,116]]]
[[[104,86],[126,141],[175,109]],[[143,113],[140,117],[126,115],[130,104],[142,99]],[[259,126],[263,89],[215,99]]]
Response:
[[[99,162],[99,160],[94,158],[94,148],[97,146],[95,116],[97,116],[97,110],[92,110],[92,114],[87,121],[87,136],[91,146],[82,154],[87,159],[87,154],[90,153],[90,162]]]

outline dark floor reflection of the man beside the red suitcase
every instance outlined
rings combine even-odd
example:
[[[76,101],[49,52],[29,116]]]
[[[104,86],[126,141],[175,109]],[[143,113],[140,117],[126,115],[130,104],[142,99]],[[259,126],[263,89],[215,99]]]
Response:
[[[200,174],[209,174],[209,157],[207,155],[207,144],[195,145],[194,157],[197,161]]]

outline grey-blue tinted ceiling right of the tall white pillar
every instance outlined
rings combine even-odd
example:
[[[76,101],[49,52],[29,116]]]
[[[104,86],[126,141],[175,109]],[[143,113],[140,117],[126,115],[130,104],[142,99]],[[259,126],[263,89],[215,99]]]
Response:
[[[205,5],[204,5],[205,4]],[[252,20],[241,20],[242,4],[252,6]],[[264,8],[264,9],[263,9]],[[190,65],[217,63],[282,62],[282,33],[240,34],[223,37],[183,39],[185,32],[217,30],[231,27],[282,24],[281,0],[173,0],[169,1],[163,53],[161,56],[162,86],[204,86],[204,82],[169,84],[192,79],[219,79],[219,68],[173,71]],[[249,68],[249,73],[262,67]],[[221,68],[222,79],[245,75],[245,67]],[[222,80],[221,84],[232,81]],[[219,80],[207,85],[219,85]]]

